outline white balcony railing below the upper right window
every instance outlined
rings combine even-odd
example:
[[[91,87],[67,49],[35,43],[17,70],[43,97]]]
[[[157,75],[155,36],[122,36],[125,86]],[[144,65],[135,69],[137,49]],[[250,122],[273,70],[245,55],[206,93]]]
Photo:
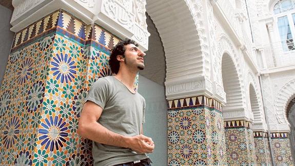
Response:
[[[295,40],[270,43],[263,48],[267,68],[295,65]]]

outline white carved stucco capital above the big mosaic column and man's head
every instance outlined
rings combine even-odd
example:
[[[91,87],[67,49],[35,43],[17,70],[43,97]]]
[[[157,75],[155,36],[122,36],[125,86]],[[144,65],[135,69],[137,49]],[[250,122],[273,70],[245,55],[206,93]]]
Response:
[[[18,32],[61,7],[85,24],[99,24],[121,39],[131,38],[148,49],[146,1],[13,0],[11,31]]]

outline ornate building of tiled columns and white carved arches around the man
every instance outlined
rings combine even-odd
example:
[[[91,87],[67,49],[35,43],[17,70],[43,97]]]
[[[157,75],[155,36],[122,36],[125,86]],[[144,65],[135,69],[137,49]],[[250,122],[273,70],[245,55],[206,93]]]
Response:
[[[146,50],[155,165],[293,165],[294,0],[13,0],[0,89],[0,163],[91,165],[76,134],[110,51]],[[1,64],[2,65],[2,64]],[[157,143],[158,142],[158,143]]]

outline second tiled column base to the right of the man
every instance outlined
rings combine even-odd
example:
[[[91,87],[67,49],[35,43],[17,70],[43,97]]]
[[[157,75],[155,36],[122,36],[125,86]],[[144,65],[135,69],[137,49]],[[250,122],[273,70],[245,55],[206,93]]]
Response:
[[[227,164],[256,165],[251,123],[245,120],[225,121]]]

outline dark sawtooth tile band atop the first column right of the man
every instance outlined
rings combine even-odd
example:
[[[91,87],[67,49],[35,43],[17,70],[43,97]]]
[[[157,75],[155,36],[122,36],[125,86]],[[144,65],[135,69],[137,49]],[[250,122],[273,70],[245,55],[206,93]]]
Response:
[[[205,105],[210,108],[215,108],[222,112],[221,103],[215,99],[207,98],[206,96],[189,97],[168,101],[168,109],[189,108],[201,105]]]

